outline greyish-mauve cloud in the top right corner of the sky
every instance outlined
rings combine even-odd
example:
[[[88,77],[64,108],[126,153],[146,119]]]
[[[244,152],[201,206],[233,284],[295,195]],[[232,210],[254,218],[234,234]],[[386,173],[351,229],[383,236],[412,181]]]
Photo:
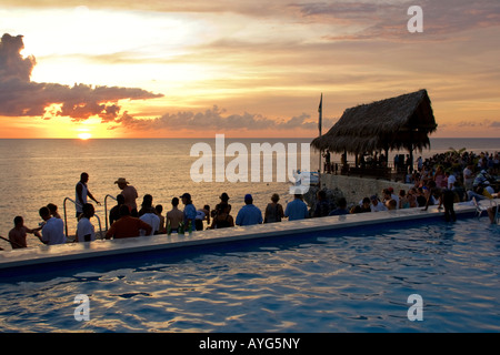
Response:
[[[344,26],[344,31],[324,37],[327,40],[414,41],[407,31],[407,10],[414,4],[423,9],[422,40],[443,40],[467,30],[500,26],[500,2],[492,0],[341,0],[290,3],[288,8],[303,21]]]

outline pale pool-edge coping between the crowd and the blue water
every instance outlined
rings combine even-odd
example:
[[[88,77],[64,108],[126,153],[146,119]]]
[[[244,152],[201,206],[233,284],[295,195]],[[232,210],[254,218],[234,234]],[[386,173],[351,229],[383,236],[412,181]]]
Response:
[[[499,203],[500,200],[496,200],[496,202]],[[490,204],[489,200],[483,200],[480,203],[482,205]],[[454,211],[458,215],[460,215],[464,213],[474,213],[477,209],[471,205],[471,203],[460,203],[454,204]],[[244,227],[236,226],[221,230],[196,231],[191,235],[161,234],[123,240],[97,240],[86,243],[41,245],[0,252],[0,270],[107,255],[189,247],[192,245],[210,245],[232,241],[291,236],[302,233],[359,227],[401,221],[424,220],[440,215],[443,215],[443,210],[438,211],[437,206],[430,206],[428,211],[422,211],[422,207],[416,207],[386,212],[327,216],[301,221],[282,221],[279,223]]]

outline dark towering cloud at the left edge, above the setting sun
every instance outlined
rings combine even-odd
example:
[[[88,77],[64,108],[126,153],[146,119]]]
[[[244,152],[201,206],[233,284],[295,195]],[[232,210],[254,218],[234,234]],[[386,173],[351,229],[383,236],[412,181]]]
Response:
[[[3,34],[0,41],[0,115],[4,116],[68,116],[83,121],[98,115],[103,122],[119,116],[120,100],[161,98],[137,88],[92,87],[31,81],[36,65],[33,57],[22,58],[22,36]],[[48,108],[59,108],[48,112]]]

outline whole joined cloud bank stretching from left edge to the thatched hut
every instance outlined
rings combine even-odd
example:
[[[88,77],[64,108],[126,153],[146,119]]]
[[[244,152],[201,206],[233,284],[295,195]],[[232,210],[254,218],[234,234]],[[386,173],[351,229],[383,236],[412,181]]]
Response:
[[[142,89],[92,87],[31,81],[36,58],[23,58],[22,36],[3,34],[0,41],[0,115],[2,116],[53,116],[70,118],[80,122],[99,116],[102,123],[110,123],[109,130],[294,130],[316,129],[317,119],[302,113],[291,119],[271,120],[259,113],[228,114],[214,105],[203,112],[181,111],[161,116],[136,118],[120,112],[120,100],[147,100],[161,98]],[[323,119],[326,125],[332,120]]]

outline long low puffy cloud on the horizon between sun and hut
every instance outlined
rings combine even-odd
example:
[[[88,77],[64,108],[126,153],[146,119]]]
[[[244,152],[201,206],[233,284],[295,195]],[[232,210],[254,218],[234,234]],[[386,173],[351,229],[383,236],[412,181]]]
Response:
[[[311,119],[309,114],[293,116],[287,120],[271,120],[261,114],[248,113],[227,114],[226,110],[217,105],[204,112],[182,111],[176,114],[167,113],[156,119],[137,119],[124,112],[121,118],[114,120],[114,125],[110,130],[127,129],[137,131],[148,130],[296,130],[317,129],[317,119]],[[331,126],[333,120],[323,119],[324,126]]]

